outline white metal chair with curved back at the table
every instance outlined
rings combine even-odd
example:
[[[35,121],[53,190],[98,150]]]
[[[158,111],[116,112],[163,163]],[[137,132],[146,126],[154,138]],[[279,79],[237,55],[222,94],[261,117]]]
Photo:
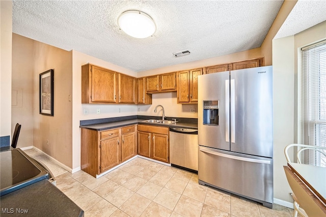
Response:
[[[322,150],[326,150],[326,147],[320,147],[320,146],[311,146],[311,145],[302,145],[302,144],[291,144],[291,145],[288,145],[285,147],[284,149],[284,154],[285,154],[285,157],[286,157],[286,160],[288,162],[291,162],[290,160],[290,157],[289,157],[289,154],[288,154],[288,150],[289,148],[291,147],[297,147],[297,152],[296,152],[296,158],[297,158],[297,163],[298,164],[302,164],[301,162],[301,157],[300,157],[300,154],[304,151],[304,150],[314,150],[314,151],[317,151],[321,154],[323,154],[325,157],[326,157],[326,153],[323,152]],[[292,193],[291,194],[292,198],[293,198],[293,208],[294,208],[294,212],[293,212],[293,217],[296,217],[297,214],[299,213],[301,216],[307,216],[307,213],[305,212],[304,209],[302,209],[299,204],[298,204],[298,200],[296,198],[296,196]]]

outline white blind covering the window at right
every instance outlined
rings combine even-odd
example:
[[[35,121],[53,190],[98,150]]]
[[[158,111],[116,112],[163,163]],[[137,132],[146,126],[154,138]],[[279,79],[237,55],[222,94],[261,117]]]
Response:
[[[302,141],[326,147],[326,41],[302,49]],[[326,167],[326,157],[304,151],[304,164]]]

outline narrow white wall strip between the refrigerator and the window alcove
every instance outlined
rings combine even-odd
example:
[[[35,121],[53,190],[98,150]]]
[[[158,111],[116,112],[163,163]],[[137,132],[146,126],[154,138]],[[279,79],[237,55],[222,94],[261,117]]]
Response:
[[[292,202],[283,166],[294,142],[294,36],[273,40],[274,198]]]

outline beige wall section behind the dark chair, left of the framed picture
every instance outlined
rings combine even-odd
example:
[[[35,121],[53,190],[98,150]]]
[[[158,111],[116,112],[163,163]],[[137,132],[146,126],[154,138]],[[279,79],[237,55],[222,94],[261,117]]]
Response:
[[[33,146],[33,45],[34,40],[12,34],[12,105],[11,125],[21,124],[18,148]]]

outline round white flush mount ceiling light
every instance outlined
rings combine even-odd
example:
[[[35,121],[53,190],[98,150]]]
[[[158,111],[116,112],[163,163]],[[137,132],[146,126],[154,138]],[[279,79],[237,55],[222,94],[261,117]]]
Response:
[[[154,20],[142,11],[125,11],[118,17],[119,28],[134,38],[147,38],[156,30]]]

